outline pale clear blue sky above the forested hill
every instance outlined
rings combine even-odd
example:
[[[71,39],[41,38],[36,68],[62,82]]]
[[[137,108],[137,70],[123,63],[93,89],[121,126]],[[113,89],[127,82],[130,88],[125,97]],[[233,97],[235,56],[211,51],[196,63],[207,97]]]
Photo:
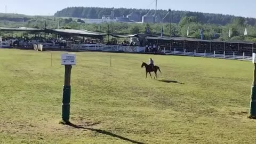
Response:
[[[20,13],[26,15],[53,15],[72,6],[84,7],[125,7],[155,9],[155,0],[0,0],[0,13]],[[172,9],[193,12],[222,13],[256,18],[255,0],[157,0],[158,9]]]

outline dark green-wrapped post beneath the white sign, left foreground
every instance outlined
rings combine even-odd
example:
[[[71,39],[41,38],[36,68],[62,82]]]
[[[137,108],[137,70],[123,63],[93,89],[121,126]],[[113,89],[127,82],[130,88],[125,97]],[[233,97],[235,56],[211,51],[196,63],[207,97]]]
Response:
[[[63,97],[62,97],[62,120],[64,122],[69,122],[70,99],[71,99],[71,86],[70,86],[71,69],[72,69],[71,65],[65,65],[65,84],[63,86]]]

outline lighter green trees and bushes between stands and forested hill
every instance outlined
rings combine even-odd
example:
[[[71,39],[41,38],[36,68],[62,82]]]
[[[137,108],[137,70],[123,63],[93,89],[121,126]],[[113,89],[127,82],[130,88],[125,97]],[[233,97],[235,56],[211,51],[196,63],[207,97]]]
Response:
[[[216,39],[223,41],[254,41],[256,42],[256,26],[251,26],[246,23],[246,19],[241,17],[235,17],[231,19],[230,23],[227,25],[217,25],[202,23],[195,16],[185,16],[178,23],[172,23],[171,28],[169,23],[100,23],[100,24],[88,24],[84,23],[82,19],[77,18],[58,18],[58,17],[27,17],[20,15],[12,15],[9,18],[9,15],[4,16],[0,15],[0,27],[27,27],[30,28],[44,28],[44,21],[46,21],[46,28],[48,29],[57,29],[58,24],[60,23],[59,28],[63,29],[85,29],[90,31],[97,31],[102,33],[114,32],[118,34],[149,34],[149,35],[161,35],[163,28],[164,36],[181,36],[181,37],[193,37],[201,38],[201,29],[204,30],[204,39]],[[26,19],[23,23],[22,19]],[[18,21],[12,21],[18,20]],[[108,26],[110,29],[108,29]],[[189,27],[189,34],[187,35],[187,29]],[[244,36],[244,30],[247,29],[248,35]],[[148,33],[149,29],[149,33]],[[230,30],[230,37],[229,37]],[[23,33],[19,32],[6,32],[0,31],[1,35],[10,36],[10,35],[19,35]]]

